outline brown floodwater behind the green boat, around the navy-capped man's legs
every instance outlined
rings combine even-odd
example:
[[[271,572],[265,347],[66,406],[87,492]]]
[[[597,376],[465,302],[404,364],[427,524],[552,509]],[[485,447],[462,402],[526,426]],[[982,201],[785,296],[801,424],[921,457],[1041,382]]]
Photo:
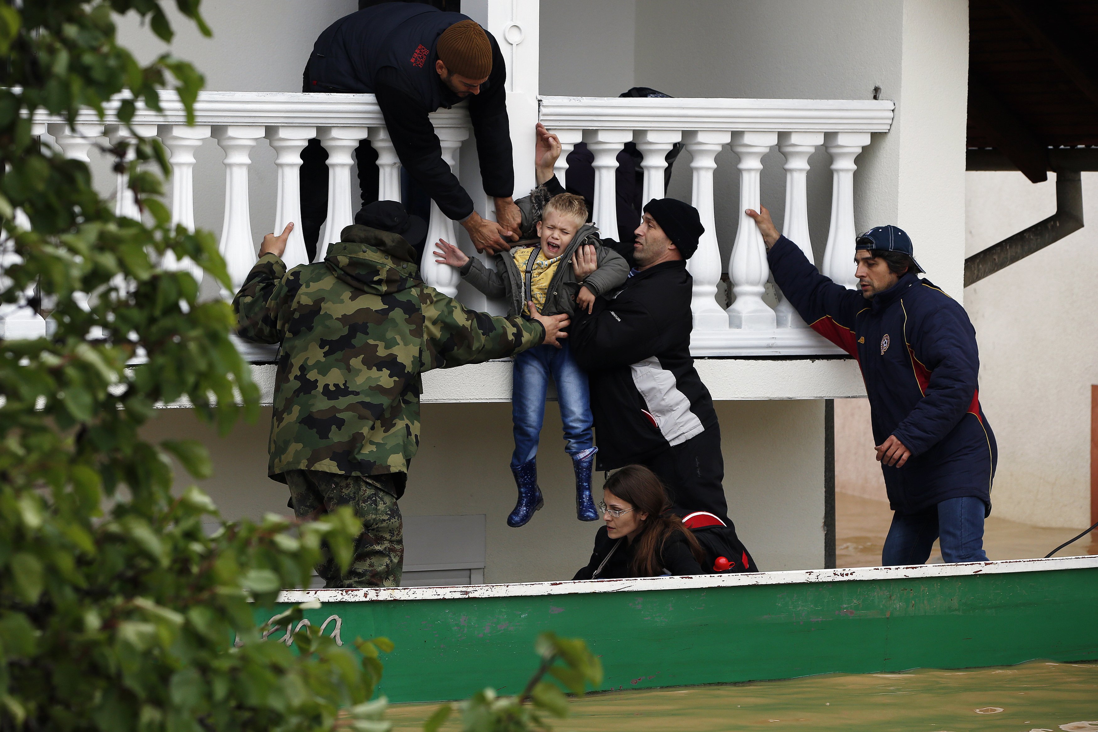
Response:
[[[834,494],[836,565],[879,566],[881,549],[892,523],[888,504],[849,493]],[[993,560],[1044,556],[1076,536],[1080,529],[1050,529],[989,516],[984,525],[984,551]],[[1060,550],[1056,556],[1098,554],[1098,529]],[[942,561],[938,544],[930,563]]]

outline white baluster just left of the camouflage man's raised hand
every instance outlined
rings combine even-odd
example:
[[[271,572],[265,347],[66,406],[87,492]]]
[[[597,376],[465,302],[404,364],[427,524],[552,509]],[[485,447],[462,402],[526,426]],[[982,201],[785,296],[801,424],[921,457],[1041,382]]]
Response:
[[[248,166],[251,165],[251,148],[264,136],[264,128],[223,125],[213,128],[213,136],[225,150],[225,221],[219,248],[233,284],[232,292],[222,289],[222,296],[232,299],[256,263],[248,204]]]

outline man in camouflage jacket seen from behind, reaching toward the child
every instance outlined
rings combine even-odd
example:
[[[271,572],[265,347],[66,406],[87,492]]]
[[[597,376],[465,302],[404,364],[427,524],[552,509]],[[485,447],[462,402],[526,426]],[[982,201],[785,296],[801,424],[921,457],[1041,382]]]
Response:
[[[299,518],[350,505],[362,519],[350,568],[340,574],[330,556],[317,567],[326,587],[397,586],[396,500],[419,447],[421,374],[556,344],[568,318],[467,309],[417,279],[403,237],[361,225],[324,261],[287,271],[292,227],[264,237],[233,301],[240,337],[282,345],[268,472],[289,485]]]

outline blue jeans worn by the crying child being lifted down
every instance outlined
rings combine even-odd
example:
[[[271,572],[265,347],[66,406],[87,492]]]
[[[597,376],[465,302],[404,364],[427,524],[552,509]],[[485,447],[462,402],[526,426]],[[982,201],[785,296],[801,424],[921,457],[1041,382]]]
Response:
[[[568,341],[562,348],[535,346],[515,357],[511,395],[515,425],[512,468],[529,462],[538,453],[550,374],[557,384],[560,418],[564,423],[564,450],[575,455],[594,446],[587,374],[572,358]]]

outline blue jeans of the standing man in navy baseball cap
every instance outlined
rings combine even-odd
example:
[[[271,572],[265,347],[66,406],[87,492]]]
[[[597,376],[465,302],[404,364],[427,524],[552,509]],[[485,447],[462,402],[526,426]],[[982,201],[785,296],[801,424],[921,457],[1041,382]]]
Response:
[[[885,548],[884,566],[926,564],[934,539],[941,538],[946,562],[986,562],[984,502],[972,496],[950,498],[918,514],[895,514]]]

